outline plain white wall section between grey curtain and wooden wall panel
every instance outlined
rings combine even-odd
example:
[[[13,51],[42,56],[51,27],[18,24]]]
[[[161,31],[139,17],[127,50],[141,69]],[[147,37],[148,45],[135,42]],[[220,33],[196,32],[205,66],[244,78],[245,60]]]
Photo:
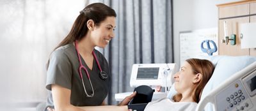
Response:
[[[241,0],[173,0],[174,62],[180,66],[179,33],[218,27],[216,4]]]

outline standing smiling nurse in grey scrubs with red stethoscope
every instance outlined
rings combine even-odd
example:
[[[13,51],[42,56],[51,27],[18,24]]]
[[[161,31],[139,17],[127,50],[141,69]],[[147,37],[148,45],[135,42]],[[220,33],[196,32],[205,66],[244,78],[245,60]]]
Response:
[[[115,34],[116,13],[102,3],[80,11],[71,31],[54,49],[47,64],[45,110],[127,110],[136,93],[118,106],[104,106],[111,85],[108,61],[95,50],[104,48]]]

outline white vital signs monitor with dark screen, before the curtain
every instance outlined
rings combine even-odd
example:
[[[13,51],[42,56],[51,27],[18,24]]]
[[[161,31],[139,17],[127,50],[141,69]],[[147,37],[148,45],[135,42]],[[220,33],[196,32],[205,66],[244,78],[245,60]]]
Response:
[[[133,64],[130,85],[131,87],[140,85],[170,87],[173,81],[172,75],[176,72],[174,63]]]

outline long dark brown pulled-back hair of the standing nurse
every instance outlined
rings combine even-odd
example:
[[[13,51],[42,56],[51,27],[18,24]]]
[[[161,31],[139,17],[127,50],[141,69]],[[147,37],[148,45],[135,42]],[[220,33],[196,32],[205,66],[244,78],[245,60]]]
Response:
[[[57,48],[72,43],[76,40],[81,40],[88,32],[87,21],[92,19],[95,26],[99,26],[100,22],[104,21],[107,17],[116,17],[116,12],[106,4],[93,3],[86,6],[80,15],[76,18],[72,29],[68,35],[60,42],[60,44],[54,48]],[[47,69],[49,67],[49,59],[47,62]]]

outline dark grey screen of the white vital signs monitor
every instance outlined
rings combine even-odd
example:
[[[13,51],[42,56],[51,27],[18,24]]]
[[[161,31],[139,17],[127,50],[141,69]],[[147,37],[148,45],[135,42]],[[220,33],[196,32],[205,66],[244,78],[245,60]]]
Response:
[[[137,80],[157,79],[159,68],[138,68]]]

